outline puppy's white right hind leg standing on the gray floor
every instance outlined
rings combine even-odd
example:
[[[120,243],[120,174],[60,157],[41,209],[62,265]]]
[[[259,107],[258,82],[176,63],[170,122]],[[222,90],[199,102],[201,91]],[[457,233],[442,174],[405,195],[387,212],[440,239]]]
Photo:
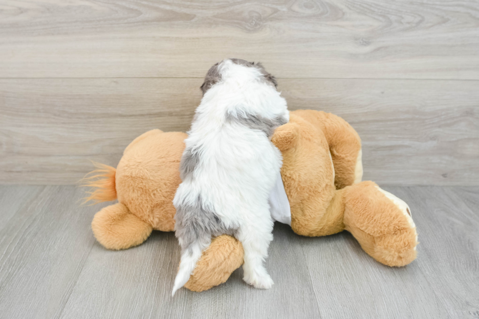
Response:
[[[264,267],[268,247],[273,240],[273,221],[269,210],[255,224],[242,225],[237,234],[244,249],[243,280],[255,288],[269,289],[274,282]]]

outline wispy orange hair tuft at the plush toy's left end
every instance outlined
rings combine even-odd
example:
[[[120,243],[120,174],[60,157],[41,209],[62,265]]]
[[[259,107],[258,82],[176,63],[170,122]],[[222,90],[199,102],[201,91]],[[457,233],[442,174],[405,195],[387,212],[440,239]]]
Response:
[[[89,172],[82,180],[82,187],[91,187],[84,198],[84,204],[93,201],[93,204],[108,202],[116,199],[114,167],[93,162],[96,170]]]

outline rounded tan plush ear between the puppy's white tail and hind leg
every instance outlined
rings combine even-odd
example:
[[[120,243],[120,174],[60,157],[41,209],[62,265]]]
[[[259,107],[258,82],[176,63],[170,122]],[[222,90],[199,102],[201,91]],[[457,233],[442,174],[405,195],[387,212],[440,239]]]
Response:
[[[203,253],[195,271],[185,287],[204,291],[225,282],[231,273],[243,264],[243,247],[234,237],[221,235],[214,238]]]

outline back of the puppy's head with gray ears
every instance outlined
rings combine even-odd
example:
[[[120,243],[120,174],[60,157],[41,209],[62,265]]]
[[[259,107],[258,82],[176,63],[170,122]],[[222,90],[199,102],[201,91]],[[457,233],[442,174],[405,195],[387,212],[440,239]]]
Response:
[[[275,88],[278,87],[276,78],[271,73],[268,73],[261,63],[231,58],[218,62],[208,70],[208,73],[206,73],[205,76],[205,81],[200,87],[203,95],[221,80],[230,77],[238,77],[238,72],[234,72],[234,70],[238,70],[238,66],[245,68],[243,70],[245,72],[241,72],[241,75],[245,76],[248,80],[256,79],[269,85],[273,85]]]

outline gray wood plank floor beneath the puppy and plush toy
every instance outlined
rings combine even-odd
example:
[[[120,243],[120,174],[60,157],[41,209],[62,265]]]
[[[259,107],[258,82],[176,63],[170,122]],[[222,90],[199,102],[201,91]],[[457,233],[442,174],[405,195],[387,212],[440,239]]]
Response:
[[[271,290],[241,270],[170,297],[173,233],[113,252],[90,230],[101,207],[73,186],[0,186],[0,318],[479,318],[479,187],[384,187],[409,203],[418,258],[389,268],[348,233],[323,238],[276,224]]]

